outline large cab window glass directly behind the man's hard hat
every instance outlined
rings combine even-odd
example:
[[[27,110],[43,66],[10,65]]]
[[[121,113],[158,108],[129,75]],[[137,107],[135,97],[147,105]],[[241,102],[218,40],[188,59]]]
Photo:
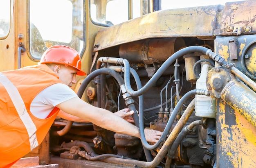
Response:
[[[47,12],[46,12],[47,11]],[[83,50],[83,0],[30,0],[30,52],[40,59],[53,45]]]

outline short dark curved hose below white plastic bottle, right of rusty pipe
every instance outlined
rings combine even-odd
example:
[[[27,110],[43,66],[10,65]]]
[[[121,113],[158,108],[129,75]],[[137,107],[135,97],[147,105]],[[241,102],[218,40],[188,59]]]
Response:
[[[175,141],[173,142],[173,144],[171,146],[171,149],[168,152],[169,158],[171,158],[171,159],[175,158],[175,153],[176,153],[177,148],[180,145],[181,141],[184,139],[184,137],[186,137],[186,135],[191,133],[193,127],[200,125],[200,124],[202,124],[202,120],[193,121],[189,125],[184,127],[184,129],[182,129],[182,131],[180,131],[179,135],[176,137]]]

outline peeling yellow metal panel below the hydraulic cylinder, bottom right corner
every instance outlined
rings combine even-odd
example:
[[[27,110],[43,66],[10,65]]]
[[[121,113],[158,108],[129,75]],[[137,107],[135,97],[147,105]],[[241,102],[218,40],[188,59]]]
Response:
[[[256,127],[223,100],[217,115],[217,167],[256,167]]]

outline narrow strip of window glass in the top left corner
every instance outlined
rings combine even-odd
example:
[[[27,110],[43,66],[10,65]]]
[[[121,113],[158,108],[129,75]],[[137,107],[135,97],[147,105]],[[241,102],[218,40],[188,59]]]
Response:
[[[10,0],[0,1],[0,37],[8,35],[10,30]]]

